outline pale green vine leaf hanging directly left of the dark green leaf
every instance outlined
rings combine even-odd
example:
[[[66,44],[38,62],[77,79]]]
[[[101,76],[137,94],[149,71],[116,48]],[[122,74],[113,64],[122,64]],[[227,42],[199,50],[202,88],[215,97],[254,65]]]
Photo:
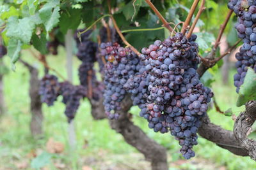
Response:
[[[53,11],[52,8],[54,8]],[[51,31],[52,28],[58,24],[60,18],[59,11],[60,6],[56,6],[54,2],[45,4],[45,6],[39,10],[39,17],[44,23],[47,32]]]

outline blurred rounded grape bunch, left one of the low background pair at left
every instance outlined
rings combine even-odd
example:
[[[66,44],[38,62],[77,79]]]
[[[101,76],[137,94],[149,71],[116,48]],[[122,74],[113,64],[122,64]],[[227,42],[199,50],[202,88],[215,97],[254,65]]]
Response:
[[[54,75],[46,74],[40,81],[39,94],[42,103],[52,106],[60,95],[60,83]]]

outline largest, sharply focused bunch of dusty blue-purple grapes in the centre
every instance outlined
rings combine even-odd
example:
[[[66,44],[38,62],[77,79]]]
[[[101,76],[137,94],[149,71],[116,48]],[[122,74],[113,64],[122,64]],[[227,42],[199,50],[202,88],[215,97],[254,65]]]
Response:
[[[128,92],[141,108],[140,116],[148,120],[148,127],[155,132],[170,131],[182,146],[185,159],[195,156],[192,148],[197,144],[200,118],[213,96],[196,73],[200,60],[195,39],[195,35],[187,39],[177,33],[143,48],[140,58],[145,70],[125,85],[125,89],[130,87]]]

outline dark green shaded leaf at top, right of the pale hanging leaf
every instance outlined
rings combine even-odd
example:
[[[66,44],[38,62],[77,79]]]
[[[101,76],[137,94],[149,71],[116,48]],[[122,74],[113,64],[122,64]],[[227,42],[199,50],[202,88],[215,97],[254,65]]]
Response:
[[[61,14],[60,31],[66,34],[68,29],[77,29],[81,22],[81,10],[70,9]]]

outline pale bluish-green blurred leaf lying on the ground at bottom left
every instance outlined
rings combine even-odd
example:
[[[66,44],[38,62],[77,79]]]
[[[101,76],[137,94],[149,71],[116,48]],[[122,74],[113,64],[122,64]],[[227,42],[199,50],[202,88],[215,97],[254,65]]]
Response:
[[[36,157],[31,161],[31,167],[35,169],[40,169],[51,163],[52,154],[48,152],[43,152],[41,155]]]

